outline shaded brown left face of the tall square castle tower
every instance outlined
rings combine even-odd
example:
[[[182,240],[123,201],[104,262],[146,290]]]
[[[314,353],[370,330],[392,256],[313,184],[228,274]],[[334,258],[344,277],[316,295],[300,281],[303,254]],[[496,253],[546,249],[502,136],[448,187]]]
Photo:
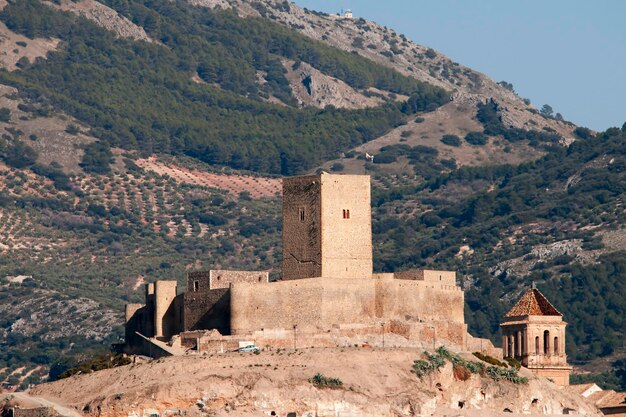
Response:
[[[283,179],[283,279],[322,274],[321,182],[317,175]]]

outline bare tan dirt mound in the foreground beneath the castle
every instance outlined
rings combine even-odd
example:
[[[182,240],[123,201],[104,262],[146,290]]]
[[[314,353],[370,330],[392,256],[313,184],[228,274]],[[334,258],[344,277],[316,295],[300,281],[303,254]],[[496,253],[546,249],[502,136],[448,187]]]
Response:
[[[476,375],[459,381],[448,364],[420,380],[410,372],[420,356],[416,350],[345,348],[174,357],[43,384],[31,394],[94,416],[167,415],[166,410],[212,416],[489,416],[505,409],[598,415],[582,399],[532,376],[528,385]],[[309,379],[316,373],[343,385],[315,387]]]

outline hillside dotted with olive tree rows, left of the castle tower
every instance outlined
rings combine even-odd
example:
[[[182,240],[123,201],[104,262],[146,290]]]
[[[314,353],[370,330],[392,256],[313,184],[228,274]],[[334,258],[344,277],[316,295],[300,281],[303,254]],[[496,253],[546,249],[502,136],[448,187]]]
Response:
[[[5,168],[0,367],[7,372],[1,379],[16,385],[18,367],[40,366],[37,375],[45,375],[65,355],[106,349],[121,336],[123,303],[140,301],[147,281],[182,283],[187,270],[199,268],[275,271],[279,200],[261,196],[277,180],[231,177],[235,184],[246,178],[249,191],[234,194],[142,170],[74,175],[71,189],[58,190],[31,171]]]

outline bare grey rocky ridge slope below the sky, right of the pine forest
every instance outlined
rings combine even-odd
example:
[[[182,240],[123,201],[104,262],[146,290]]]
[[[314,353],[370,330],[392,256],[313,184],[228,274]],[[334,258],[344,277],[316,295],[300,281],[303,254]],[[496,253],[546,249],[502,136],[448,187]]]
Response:
[[[455,152],[439,143],[443,134],[465,134],[479,130],[471,126],[476,115],[476,104],[495,100],[500,106],[500,116],[506,126],[532,131],[557,132],[563,144],[575,140],[572,123],[542,116],[530,102],[486,75],[452,61],[444,54],[419,45],[398,34],[391,28],[362,18],[343,18],[328,15],[305,8],[294,3],[280,0],[199,0],[190,3],[208,8],[233,10],[240,16],[262,16],[274,22],[293,28],[300,33],[320,40],[334,47],[364,56],[374,62],[387,65],[407,76],[432,85],[440,86],[451,92],[451,103],[440,108],[434,114],[425,115],[429,123],[417,124],[412,120],[407,126],[392,130],[380,139],[357,147],[354,151],[376,154],[380,148],[407,142],[408,144],[428,144],[442,149],[442,156],[454,157],[459,165],[485,165],[490,160],[475,147],[464,144]],[[316,76],[311,76],[316,81]],[[323,77],[318,76],[323,84]],[[334,103],[331,103],[334,104]],[[468,126],[468,124],[470,126]],[[474,129],[474,130],[471,130]],[[406,132],[402,135],[403,132]],[[505,150],[506,143],[495,143],[487,152],[494,160],[517,162],[537,157],[541,152],[524,146],[515,147],[513,154]],[[335,163],[346,166],[346,172],[363,173],[367,168],[362,161],[352,158],[340,158],[324,166],[330,168]],[[402,166],[387,167],[387,172],[406,173]]]

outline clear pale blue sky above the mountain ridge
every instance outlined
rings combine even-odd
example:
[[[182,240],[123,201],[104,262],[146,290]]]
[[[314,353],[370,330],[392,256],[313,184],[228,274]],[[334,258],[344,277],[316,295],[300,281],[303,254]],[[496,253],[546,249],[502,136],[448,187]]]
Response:
[[[626,1],[295,0],[351,9],[437,49],[536,107],[596,130],[626,122]]]

